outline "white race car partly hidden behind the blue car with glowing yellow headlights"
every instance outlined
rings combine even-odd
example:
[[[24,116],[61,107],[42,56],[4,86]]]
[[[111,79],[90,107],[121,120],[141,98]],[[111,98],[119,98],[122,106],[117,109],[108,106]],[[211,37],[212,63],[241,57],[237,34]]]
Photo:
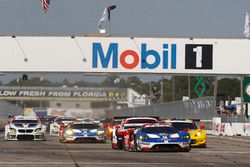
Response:
[[[60,127],[64,127],[69,123],[72,123],[76,120],[76,117],[73,116],[58,116],[55,118],[54,122],[50,124],[49,134],[51,136],[59,136]]]

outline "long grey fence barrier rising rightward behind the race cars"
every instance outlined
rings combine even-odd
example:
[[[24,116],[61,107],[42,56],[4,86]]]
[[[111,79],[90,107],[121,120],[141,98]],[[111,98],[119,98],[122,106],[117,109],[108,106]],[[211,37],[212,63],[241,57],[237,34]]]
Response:
[[[107,117],[159,116],[161,119],[185,118],[212,120],[216,115],[216,105],[213,97],[202,97],[187,101],[168,102],[107,112]]]

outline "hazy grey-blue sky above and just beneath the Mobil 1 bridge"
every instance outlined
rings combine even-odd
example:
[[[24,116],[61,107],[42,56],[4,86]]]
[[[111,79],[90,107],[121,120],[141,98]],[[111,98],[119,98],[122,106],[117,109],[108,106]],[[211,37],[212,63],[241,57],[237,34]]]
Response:
[[[116,36],[243,38],[245,13],[250,12],[250,0],[51,0],[47,14],[40,0],[0,0],[0,34],[98,33],[98,21],[109,5],[117,6],[110,26]],[[67,77],[72,76],[56,78]],[[76,78],[81,77],[72,80]]]

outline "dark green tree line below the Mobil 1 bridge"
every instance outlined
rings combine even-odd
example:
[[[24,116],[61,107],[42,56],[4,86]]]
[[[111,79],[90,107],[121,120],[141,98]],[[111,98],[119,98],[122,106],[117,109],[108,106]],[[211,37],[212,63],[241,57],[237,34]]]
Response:
[[[214,96],[214,86],[216,77],[204,77],[205,92],[203,96]],[[240,80],[239,78],[220,78],[217,79],[217,100],[233,100],[240,96]],[[194,87],[197,84],[195,76],[172,76],[171,78],[161,78],[154,81],[142,81],[138,76],[129,76],[124,78],[118,75],[107,76],[102,82],[77,81],[70,82],[65,79],[63,82],[51,82],[49,80],[41,80],[39,77],[25,78],[21,80],[12,80],[7,84],[0,82],[2,86],[39,86],[39,87],[119,87],[132,88],[140,94],[145,94],[152,98],[155,103],[182,100],[183,96],[190,98],[198,98]],[[189,89],[190,88],[190,89]],[[163,91],[161,90],[163,89]],[[174,90],[173,90],[174,89]],[[202,91],[198,86],[197,91]],[[163,98],[161,98],[163,92]],[[190,92],[190,93],[189,93]]]

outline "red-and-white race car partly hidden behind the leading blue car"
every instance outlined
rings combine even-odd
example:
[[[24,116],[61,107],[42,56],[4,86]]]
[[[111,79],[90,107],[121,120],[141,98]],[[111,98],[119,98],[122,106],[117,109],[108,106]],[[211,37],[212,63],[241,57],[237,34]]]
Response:
[[[122,150],[124,146],[124,134],[129,129],[138,129],[144,124],[157,123],[157,118],[152,117],[131,117],[123,119],[120,125],[113,128],[111,136],[111,146],[113,149]]]

